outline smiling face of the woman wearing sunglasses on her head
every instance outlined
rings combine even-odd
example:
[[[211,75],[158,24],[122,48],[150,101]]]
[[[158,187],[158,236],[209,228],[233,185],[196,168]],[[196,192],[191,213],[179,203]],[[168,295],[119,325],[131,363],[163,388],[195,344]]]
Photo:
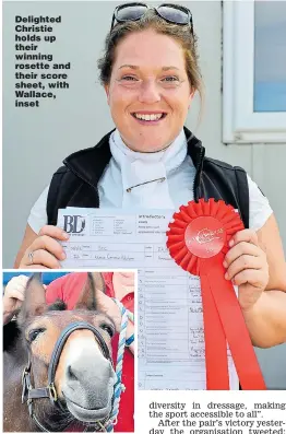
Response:
[[[152,30],[132,33],[118,45],[105,89],[124,143],[139,152],[167,148],[193,97],[179,43]]]

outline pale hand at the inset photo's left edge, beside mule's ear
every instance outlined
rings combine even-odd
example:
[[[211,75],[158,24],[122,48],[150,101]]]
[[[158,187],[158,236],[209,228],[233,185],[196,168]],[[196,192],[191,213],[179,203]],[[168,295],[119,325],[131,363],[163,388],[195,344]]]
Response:
[[[9,322],[21,308],[25,297],[27,275],[12,278],[5,286],[3,295],[3,324]]]

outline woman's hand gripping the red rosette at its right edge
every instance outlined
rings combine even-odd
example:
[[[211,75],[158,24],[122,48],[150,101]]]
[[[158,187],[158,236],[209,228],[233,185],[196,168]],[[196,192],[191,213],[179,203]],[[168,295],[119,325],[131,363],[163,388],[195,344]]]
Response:
[[[257,303],[269,282],[269,263],[252,230],[239,231],[229,242],[224,266],[225,278],[238,285],[238,301],[242,310]]]

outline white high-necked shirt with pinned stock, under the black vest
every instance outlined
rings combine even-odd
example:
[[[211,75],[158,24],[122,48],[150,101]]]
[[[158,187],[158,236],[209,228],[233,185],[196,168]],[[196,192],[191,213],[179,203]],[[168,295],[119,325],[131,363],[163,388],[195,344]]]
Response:
[[[195,167],[187,154],[183,130],[170,146],[156,153],[131,151],[117,130],[110,136],[109,144],[112,156],[98,183],[100,208],[178,210],[181,204],[193,200]],[[158,178],[166,179],[162,183],[154,180]],[[248,184],[249,227],[258,231],[273,211],[269,200],[249,176]],[[128,191],[130,187],[133,188]],[[28,216],[27,223],[35,233],[47,224],[48,190],[49,186],[35,202]]]

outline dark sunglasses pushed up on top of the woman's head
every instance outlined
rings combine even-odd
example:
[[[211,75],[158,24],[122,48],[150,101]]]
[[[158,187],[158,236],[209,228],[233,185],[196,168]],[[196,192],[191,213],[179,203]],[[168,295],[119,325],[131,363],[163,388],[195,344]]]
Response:
[[[145,3],[136,2],[120,4],[115,9],[110,32],[114,28],[115,21],[117,21],[118,23],[126,23],[127,21],[139,21],[148,9],[153,9],[156,14],[159,15],[163,20],[167,21],[167,23],[189,25],[191,28],[191,34],[193,35],[191,11],[188,8],[172,3],[163,3],[157,8],[151,8]]]

